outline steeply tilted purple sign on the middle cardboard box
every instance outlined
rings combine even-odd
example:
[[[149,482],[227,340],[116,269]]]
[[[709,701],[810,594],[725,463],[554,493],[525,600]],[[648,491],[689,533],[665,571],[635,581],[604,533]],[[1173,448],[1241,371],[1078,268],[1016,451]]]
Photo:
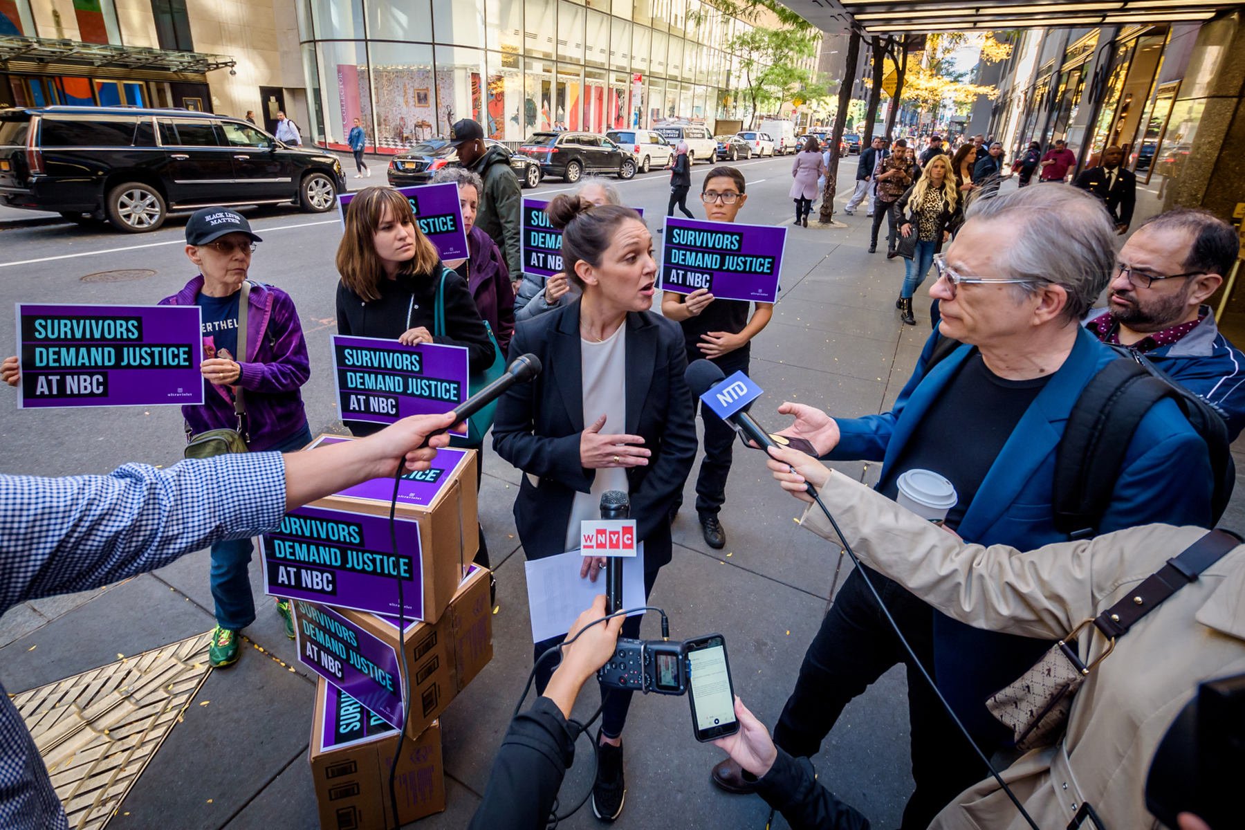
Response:
[[[299,661],[391,725],[402,723],[397,651],[326,605],[298,601],[294,611]]]

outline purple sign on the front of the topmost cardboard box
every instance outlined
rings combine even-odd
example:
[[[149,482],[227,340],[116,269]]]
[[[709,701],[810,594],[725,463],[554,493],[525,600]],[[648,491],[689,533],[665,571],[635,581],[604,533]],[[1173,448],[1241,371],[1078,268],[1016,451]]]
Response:
[[[396,518],[393,555],[388,516],[299,508],[263,538],[264,592],[326,602],[370,613],[397,613],[402,581],[405,616],[423,618],[423,550],[420,524]]]

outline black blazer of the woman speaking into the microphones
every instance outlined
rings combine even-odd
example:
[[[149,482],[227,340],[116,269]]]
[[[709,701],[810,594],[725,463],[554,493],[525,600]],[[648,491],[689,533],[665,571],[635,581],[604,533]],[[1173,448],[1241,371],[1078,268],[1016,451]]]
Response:
[[[493,422],[493,449],[527,474],[514,500],[514,523],[528,559],[563,553],[575,493],[591,490],[596,475],[579,460],[585,426],[579,305],[576,300],[515,327],[510,356],[534,353],[544,371],[507,389]],[[627,470],[631,518],[651,571],[670,561],[667,514],[696,458],[695,413],[679,324],[645,311],[627,314],[624,325],[626,426],[605,424],[605,431],[642,436],[652,452],[647,465]]]

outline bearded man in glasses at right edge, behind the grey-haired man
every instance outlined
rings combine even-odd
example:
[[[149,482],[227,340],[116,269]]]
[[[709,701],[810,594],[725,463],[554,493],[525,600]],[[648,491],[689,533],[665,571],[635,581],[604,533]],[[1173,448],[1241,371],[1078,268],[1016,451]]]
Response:
[[[1245,427],[1245,355],[1204,305],[1231,271],[1236,229],[1206,210],[1177,208],[1147,219],[1116,256],[1106,311],[1086,321],[1104,343],[1125,346]]]

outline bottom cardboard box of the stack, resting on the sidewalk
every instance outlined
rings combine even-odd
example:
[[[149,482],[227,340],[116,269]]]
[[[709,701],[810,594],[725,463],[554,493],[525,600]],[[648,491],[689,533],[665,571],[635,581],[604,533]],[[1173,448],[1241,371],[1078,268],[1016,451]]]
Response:
[[[387,830],[393,825],[388,776],[396,748],[397,729],[320,678],[309,760],[322,830]],[[446,809],[438,722],[402,743],[396,789],[398,824]]]

